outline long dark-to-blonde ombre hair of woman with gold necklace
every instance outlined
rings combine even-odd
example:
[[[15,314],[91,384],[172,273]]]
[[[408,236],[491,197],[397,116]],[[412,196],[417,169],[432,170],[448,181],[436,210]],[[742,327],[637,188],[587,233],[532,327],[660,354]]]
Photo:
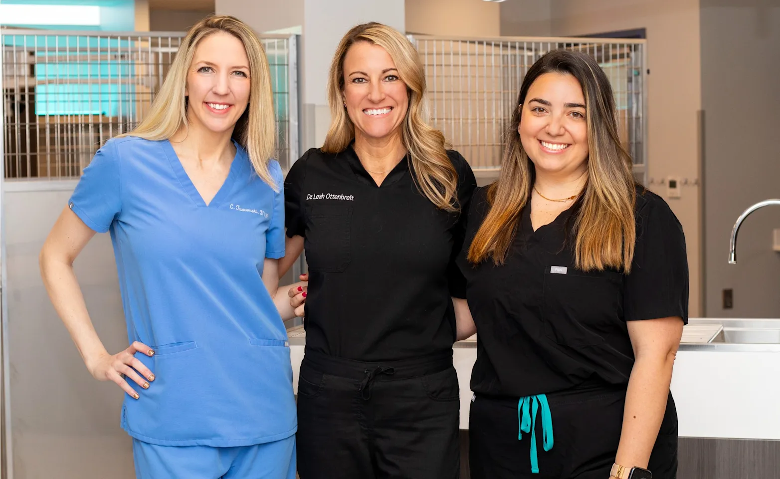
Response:
[[[636,182],[631,157],[620,143],[612,87],[590,55],[565,49],[544,55],[523,79],[507,133],[502,170],[495,183],[488,186],[490,210],[474,236],[468,259],[478,263],[492,257],[495,264],[502,264],[516,234],[520,211],[530,200],[534,164],[523,149],[517,128],[528,90],[544,73],[574,76],[585,97],[589,154],[587,183],[573,206],[576,268],[591,271],[611,267],[628,273],[636,241]]]

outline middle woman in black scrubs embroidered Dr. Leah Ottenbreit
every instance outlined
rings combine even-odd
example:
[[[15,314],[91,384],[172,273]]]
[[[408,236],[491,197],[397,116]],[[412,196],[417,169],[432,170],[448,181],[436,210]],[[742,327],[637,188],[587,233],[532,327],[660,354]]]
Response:
[[[306,293],[298,472],[455,479],[452,342],[455,309],[468,310],[455,260],[476,180],[425,123],[423,66],[392,28],[346,34],[328,100],[324,146],[285,180],[280,269],[305,247],[310,275],[298,298]]]

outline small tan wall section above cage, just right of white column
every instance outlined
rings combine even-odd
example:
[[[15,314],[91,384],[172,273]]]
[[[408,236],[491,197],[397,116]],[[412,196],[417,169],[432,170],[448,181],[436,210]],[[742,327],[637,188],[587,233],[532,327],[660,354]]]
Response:
[[[406,0],[406,32],[498,37],[500,5],[481,0]]]

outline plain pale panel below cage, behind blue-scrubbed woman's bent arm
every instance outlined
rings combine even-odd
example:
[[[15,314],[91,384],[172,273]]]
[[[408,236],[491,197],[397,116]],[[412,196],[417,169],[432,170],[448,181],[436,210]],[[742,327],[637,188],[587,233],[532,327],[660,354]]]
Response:
[[[113,383],[94,380],[84,367],[38,269],[38,252],[76,181],[29,190],[42,183],[48,182],[3,186],[13,477],[131,479],[131,441],[119,427],[124,393]],[[106,349],[125,349],[127,331],[108,234],[87,244],[74,269]]]

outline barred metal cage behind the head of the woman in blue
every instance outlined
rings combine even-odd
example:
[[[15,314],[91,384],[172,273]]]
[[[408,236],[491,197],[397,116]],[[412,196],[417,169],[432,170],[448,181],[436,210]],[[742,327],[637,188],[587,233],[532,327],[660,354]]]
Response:
[[[5,179],[78,177],[151,107],[184,33],[0,30]],[[261,38],[271,66],[277,158],[298,158],[297,37]]]

